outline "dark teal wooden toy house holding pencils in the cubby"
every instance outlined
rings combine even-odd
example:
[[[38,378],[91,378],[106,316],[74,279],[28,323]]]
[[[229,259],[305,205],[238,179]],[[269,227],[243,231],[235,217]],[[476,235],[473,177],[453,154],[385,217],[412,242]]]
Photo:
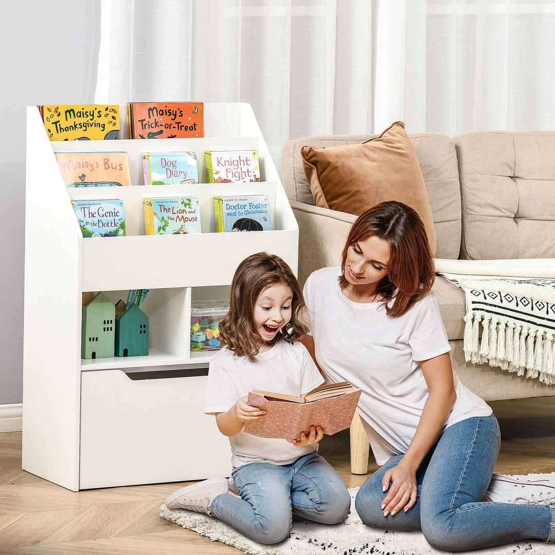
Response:
[[[115,356],[148,355],[148,316],[135,304],[125,310],[125,302],[115,305]]]

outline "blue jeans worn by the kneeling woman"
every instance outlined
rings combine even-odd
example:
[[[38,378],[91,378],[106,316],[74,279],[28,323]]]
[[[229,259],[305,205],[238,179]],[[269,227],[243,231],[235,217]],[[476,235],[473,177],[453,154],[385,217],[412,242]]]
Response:
[[[415,505],[406,513],[384,517],[381,504],[386,493],[381,481],[402,455],[391,457],[357,493],[355,506],[362,522],[388,530],[421,529],[431,546],[444,551],[498,546],[521,538],[555,540],[551,525],[555,509],[483,501],[499,442],[493,415],[448,427],[418,468]]]

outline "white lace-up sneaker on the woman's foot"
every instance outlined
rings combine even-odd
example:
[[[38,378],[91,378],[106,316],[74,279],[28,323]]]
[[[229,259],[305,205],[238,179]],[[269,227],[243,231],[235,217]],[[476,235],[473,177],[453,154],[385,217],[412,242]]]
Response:
[[[555,503],[555,480],[528,482],[494,474],[486,496],[496,503],[549,505]]]

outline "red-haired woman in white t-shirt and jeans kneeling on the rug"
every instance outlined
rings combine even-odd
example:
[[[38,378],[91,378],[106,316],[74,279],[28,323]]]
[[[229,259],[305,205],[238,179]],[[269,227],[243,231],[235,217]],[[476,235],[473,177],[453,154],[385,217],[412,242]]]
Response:
[[[434,279],[420,217],[387,201],[352,225],[341,267],[317,270],[305,284],[305,345],[329,380],[362,388],[358,412],[382,465],[360,488],[357,512],[371,527],[421,529],[446,551],[555,541],[547,504],[484,501],[486,492],[512,499],[515,483],[492,480],[497,420],[453,373]],[[525,490],[549,501],[554,486]]]

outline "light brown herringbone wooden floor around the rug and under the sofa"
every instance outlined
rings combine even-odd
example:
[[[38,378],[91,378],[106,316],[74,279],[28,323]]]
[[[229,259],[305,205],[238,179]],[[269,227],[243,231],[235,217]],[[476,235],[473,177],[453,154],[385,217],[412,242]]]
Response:
[[[490,403],[502,431],[496,472],[555,471],[555,398]],[[326,436],[320,453],[347,487],[367,475],[349,467],[349,435]],[[371,457],[372,458],[372,457]],[[370,466],[369,471],[375,470]],[[183,483],[72,492],[21,470],[21,432],[0,434],[0,554],[239,555],[159,517]]]

